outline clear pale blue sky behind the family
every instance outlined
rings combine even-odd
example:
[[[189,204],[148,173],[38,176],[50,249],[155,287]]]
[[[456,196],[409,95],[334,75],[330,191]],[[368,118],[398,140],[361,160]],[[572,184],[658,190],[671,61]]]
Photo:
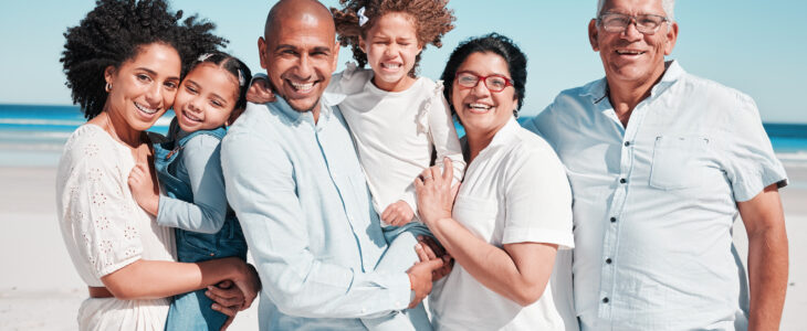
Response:
[[[258,38],[275,1],[174,0],[199,13],[230,40],[228,52],[260,71]],[[323,1],[337,6],[337,0]],[[602,76],[586,36],[596,0],[452,0],[457,29],[443,47],[423,53],[421,75],[437,79],[451,50],[492,31],[515,40],[530,58],[523,114],[544,109],[560,90]],[[71,104],[59,57],[62,33],[94,7],[91,0],[3,1],[0,4],[0,103]],[[679,0],[677,58],[690,73],[737,88],[756,100],[763,120],[807,122],[807,2]],[[339,62],[352,58],[343,49]],[[339,68],[339,70],[340,70]]]

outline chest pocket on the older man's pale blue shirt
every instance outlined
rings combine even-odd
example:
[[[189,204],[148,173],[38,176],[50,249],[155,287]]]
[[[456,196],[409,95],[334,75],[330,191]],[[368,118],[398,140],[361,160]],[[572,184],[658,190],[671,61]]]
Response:
[[[702,160],[709,139],[700,136],[660,136],[653,145],[650,186],[682,190],[699,186],[703,179]]]

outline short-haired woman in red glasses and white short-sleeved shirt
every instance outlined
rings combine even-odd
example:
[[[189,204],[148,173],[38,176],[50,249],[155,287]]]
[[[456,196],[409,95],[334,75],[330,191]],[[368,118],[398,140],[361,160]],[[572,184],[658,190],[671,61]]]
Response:
[[[415,181],[423,223],[458,264],[430,296],[433,325],[577,330],[568,181],[552,147],[515,119],[526,56],[495,33],[471,39],[442,79],[465,128],[468,169],[459,192],[448,159]]]

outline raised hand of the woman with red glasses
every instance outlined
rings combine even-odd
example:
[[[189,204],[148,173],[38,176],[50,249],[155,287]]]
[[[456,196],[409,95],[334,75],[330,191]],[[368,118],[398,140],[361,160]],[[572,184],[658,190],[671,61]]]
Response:
[[[454,197],[460,185],[451,186],[454,168],[451,159],[443,159],[442,173],[438,166],[428,168],[415,179],[415,190],[418,194],[418,212],[420,221],[426,225],[437,222],[440,218],[451,217],[451,210],[454,205]]]

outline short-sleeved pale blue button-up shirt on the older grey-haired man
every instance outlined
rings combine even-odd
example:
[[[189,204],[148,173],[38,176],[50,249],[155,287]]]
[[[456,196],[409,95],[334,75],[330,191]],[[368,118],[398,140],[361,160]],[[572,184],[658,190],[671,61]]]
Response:
[[[572,183],[584,330],[747,324],[736,202],[785,185],[785,171],[748,96],[667,65],[627,128],[605,78],[560,93],[525,125],[553,145]]]

